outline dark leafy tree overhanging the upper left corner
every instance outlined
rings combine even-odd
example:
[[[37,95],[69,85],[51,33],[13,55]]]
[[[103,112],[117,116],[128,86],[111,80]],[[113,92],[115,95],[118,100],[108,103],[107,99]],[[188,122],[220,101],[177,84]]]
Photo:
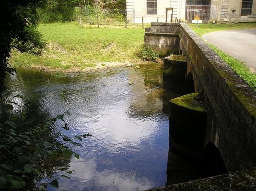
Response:
[[[0,1],[0,96],[6,74],[15,72],[8,63],[12,49],[40,54],[45,45],[41,34],[36,30],[37,9],[45,4],[46,0]]]

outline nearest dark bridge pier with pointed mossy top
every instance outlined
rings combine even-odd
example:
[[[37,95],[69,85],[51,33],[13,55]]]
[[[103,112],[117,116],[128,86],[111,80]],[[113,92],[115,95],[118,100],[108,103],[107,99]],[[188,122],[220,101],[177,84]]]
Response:
[[[170,101],[169,145],[183,155],[202,158],[207,113],[198,93]]]

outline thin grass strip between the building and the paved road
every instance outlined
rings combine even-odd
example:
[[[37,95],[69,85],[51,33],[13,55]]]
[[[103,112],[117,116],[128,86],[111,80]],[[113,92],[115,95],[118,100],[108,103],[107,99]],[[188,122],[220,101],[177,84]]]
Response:
[[[209,32],[230,30],[230,29],[249,29],[256,28],[256,22],[253,23],[223,23],[223,24],[188,24],[199,36]]]

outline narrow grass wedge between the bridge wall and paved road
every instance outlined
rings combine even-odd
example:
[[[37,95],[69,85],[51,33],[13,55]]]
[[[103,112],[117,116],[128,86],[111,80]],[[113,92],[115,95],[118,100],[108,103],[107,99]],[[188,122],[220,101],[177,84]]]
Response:
[[[249,68],[240,60],[233,58],[232,56],[224,53],[216,46],[208,44],[209,47],[214,50],[223,61],[229,64],[232,69],[242,78],[244,81],[250,85],[256,91],[256,74],[252,73]]]

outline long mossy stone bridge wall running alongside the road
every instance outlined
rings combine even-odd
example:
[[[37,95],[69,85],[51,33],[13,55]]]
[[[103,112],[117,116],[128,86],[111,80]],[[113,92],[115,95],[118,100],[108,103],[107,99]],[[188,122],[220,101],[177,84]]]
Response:
[[[145,33],[146,44],[151,45],[155,36],[149,34],[154,32],[151,30],[161,33],[161,27],[162,33],[178,32],[178,40],[171,41],[174,44],[169,47],[186,55],[184,78],[192,74],[195,91],[203,95],[207,110],[205,147],[214,143],[229,171],[256,166],[256,91],[185,23],[151,23]],[[168,27],[175,29],[168,31]]]

